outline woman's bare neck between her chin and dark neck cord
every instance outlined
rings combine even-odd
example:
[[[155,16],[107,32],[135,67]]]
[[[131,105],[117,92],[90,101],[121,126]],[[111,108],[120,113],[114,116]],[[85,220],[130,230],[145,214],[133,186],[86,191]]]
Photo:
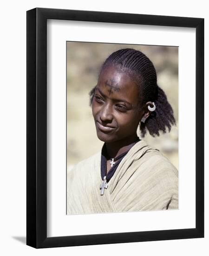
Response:
[[[135,134],[126,138],[125,140],[123,139],[120,141],[106,142],[107,154],[110,158],[115,158],[129,150],[137,141],[137,139],[137,134]]]

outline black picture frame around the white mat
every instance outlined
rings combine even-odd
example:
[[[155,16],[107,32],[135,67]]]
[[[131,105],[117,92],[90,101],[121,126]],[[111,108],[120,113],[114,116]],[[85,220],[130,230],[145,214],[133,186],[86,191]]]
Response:
[[[26,244],[50,248],[204,237],[204,19],[47,8],[34,8],[26,16]],[[47,237],[47,19],[196,28],[195,229]]]

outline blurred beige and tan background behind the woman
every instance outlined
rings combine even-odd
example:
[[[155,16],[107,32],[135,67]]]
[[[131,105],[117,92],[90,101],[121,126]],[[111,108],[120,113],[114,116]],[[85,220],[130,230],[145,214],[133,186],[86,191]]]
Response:
[[[143,138],[159,149],[178,169],[178,47],[129,44],[67,42],[67,170],[74,164],[99,152],[98,140],[89,106],[89,91],[97,84],[104,60],[121,48],[142,51],[153,62],[157,84],[167,95],[174,110],[176,126],[170,133]],[[141,138],[139,129],[138,136]]]

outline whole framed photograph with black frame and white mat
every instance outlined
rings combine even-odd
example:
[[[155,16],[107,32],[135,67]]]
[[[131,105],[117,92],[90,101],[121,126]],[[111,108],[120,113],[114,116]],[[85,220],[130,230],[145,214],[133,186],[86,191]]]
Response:
[[[27,11],[34,248],[204,236],[204,19]]]

